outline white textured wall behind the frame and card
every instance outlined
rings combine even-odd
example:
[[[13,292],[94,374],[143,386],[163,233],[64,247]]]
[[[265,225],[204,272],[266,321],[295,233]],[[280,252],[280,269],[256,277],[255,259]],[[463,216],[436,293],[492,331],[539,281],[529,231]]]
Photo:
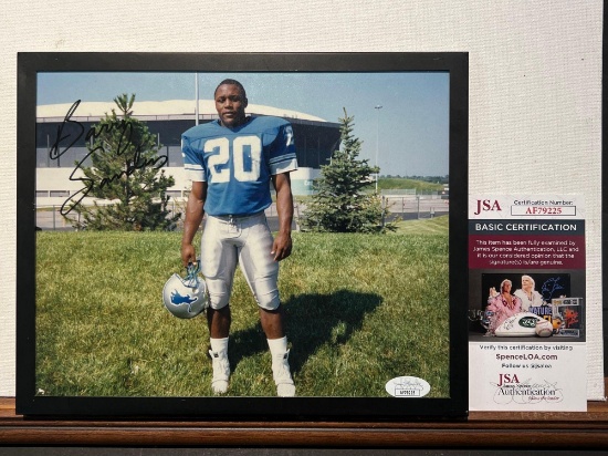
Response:
[[[470,193],[585,196],[587,394],[604,397],[601,0],[0,4],[0,396],[15,392],[18,52],[467,51]]]

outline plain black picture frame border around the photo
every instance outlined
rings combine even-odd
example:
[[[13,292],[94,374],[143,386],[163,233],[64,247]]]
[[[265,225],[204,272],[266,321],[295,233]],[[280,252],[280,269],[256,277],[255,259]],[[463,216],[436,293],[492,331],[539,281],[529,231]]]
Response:
[[[17,413],[226,419],[461,419],[468,413],[468,53],[39,53],[18,56]],[[36,75],[40,72],[449,73],[448,397],[92,397],[36,394]],[[405,107],[406,108],[406,107]]]

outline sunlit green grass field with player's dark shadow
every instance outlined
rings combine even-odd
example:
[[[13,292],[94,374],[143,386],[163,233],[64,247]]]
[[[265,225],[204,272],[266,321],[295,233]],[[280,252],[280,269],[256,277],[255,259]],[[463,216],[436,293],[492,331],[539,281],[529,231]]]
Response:
[[[179,232],[38,232],[36,388],[59,396],[211,395],[202,317],[161,302]],[[412,375],[449,396],[448,219],[386,236],[294,234],[282,263],[298,396],[387,396]],[[229,394],[273,396],[258,309],[240,271]]]

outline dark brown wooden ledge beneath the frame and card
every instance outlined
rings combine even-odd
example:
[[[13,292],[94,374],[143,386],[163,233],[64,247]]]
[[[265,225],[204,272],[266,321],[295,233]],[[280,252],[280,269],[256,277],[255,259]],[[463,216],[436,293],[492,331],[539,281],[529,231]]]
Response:
[[[0,398],[0,445],[608,448],[608,403],[585,413],[471,412],[463,422],[53,419]]]

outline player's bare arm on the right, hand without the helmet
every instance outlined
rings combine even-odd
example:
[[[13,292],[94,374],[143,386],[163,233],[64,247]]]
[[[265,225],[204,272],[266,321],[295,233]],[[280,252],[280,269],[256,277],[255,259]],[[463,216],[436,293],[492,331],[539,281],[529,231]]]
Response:
[[[274,238],[272,255],[274,261],[287,258],[292,252],[293,196],[289,173],[272,176],[276,190],[276,213],[279,215],[279,232]]]

